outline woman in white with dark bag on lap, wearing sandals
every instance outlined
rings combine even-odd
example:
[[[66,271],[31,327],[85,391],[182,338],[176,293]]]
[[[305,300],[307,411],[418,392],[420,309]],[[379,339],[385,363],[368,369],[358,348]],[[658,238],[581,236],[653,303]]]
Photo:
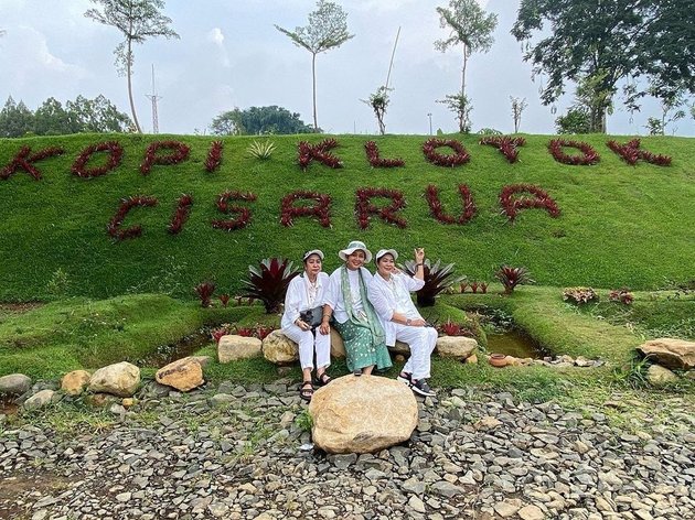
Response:
[[[331,365],[330,328],[319,329],[322,316],[324,292],[329,286],[329,277],[321,271],[323,252],[318,249],[303,256],[304,272],[295,277],[287,288],[282,333],[299,345],[299,362],[302,370],[302,384],[299,396],[309,402],[313,396],[311,372],[314,369],[316,351],[317,384],[331,381],[325,369]]]

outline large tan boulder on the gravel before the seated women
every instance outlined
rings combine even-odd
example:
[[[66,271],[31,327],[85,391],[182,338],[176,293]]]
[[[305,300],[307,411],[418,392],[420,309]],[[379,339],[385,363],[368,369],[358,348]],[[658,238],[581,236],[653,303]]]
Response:
[[[410,438],[417,401],[405,384],[376,376],[343,376],[309,404],[314,444],[328,453],[373,453]]]

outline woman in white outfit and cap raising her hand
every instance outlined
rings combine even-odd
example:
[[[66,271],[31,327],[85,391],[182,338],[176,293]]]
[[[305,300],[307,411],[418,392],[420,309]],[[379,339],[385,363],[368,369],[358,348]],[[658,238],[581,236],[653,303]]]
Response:
[[[393,249],[382,249],[376,253],[377,271],[370,283],[368,299],[384,327],[386,345],[393,347],[398,339],[410,347],[410,357],[398,380],[407,383],[415,393],[435,396],[427,379],[437,331],[427,326],[410,297],[410,292],[425,285],[425,250],[415,250],[415,277],[396,269],[397,258],[398,253]]]

